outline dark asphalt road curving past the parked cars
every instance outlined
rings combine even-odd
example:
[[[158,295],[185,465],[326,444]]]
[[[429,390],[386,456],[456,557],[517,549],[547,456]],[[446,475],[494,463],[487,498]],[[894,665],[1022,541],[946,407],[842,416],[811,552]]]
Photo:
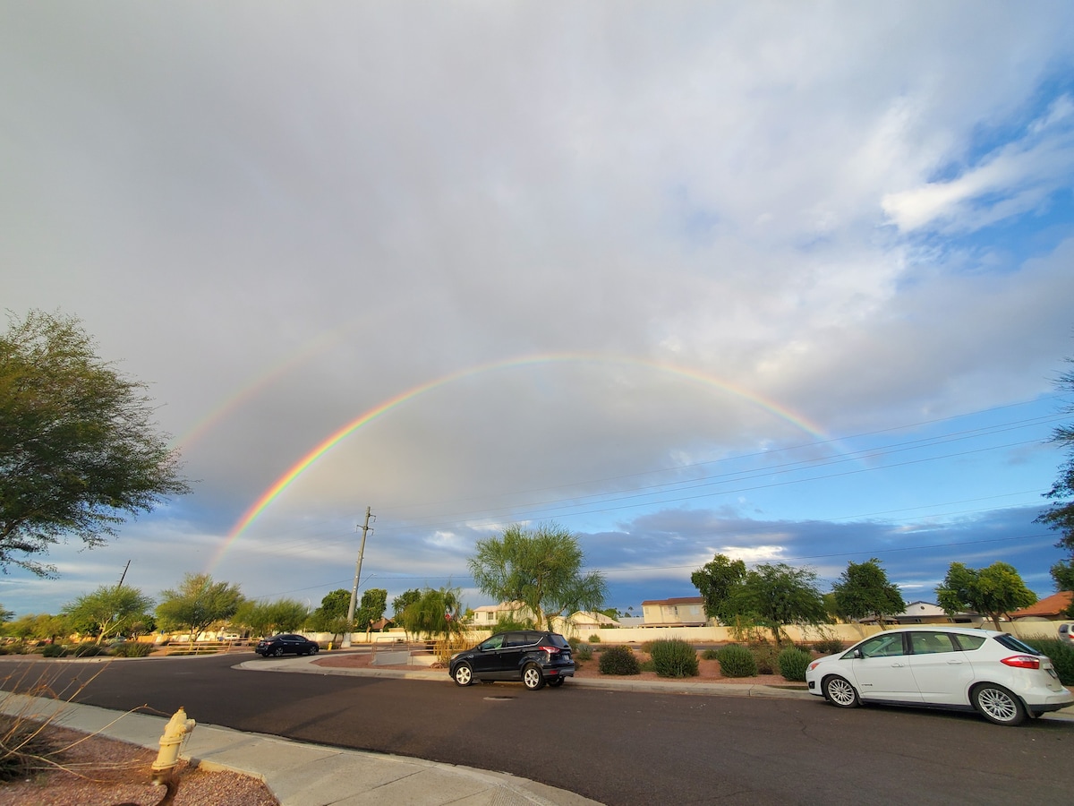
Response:
[[[182,705],[199,722],[507,772],[606,804],[1071,798],[1074,722],[1012,729],[973,715],[840,710],[819,697],[629,693],[570,681],[538,692],[518,683],[462,689],[448,679],[232,668],[253,657],[4,660],[0,677],[4,688],[26,690],[47,670],[53,689],[76,702],[162,716]]]

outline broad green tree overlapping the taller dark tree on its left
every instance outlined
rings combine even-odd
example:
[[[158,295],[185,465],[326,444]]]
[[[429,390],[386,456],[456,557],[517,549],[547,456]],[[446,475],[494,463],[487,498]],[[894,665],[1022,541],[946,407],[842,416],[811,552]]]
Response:
[[[734,614],[756,615],[772,631],[777,644],[787,624],[819,624],[825,617],[816,572],[782,562],[763,563],[748,572],[731,591],[727,607]]]

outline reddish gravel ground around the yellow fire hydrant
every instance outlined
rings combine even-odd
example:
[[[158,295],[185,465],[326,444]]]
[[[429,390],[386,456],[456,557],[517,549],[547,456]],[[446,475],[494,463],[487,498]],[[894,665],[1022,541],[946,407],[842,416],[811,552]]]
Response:
[[[0,783],[0,806],[149,806],[166,792],[150,783],[155,750],[66,728],[49,726],[47,736],[54,747],[64,748],[57,758],[67,771]],[[176,767],[176,777],[175,806],[279,806],[258,778],[206,773],[186,762]]]

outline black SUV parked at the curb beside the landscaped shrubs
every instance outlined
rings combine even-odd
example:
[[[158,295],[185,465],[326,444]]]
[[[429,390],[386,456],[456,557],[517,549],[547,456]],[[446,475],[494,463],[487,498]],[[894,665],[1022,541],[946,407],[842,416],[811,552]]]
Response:
[[[522,680],[531,691],[546,682],[562,686],[575,674],[570,644],[558,633],[521,630],[496,633],[473,649],[451,658],[451,679],[460,686],[474,680]]]

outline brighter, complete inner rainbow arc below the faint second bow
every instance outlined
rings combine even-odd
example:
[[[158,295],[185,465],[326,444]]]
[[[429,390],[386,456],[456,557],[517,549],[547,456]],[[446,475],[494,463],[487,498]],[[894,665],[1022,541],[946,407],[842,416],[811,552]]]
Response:
[[[265,508],[275,501],[280,493],[284,492],[299,476],[305,473],[314,463],[317,462],[322,456],[328,451],[343,442],[347,436],[352,434],[358,429],[372,422],[378,417],[387,414],[398,405],[406,403],[407,401],[419,398],[422,394],[438,389],[440,387],[447,386],[449,384],[462,380],[463,378],[468,378],[474,375],[478,375],[485,372],[494,372],[497,370],[516,369],[519,366],[534,366],[539,364],[548,364],[555,362],[574,362],[574,363],[612,363],[612,364],[624,364],[629,366],[642,366],[651,370],[656,370],[659,372],[672,373],[674,375],[697,380],[699,383],[706,384],[708,386],[714,386],[717,389],[734,394],[742,400],[746,400],[760,408],[775,415],[777,417],[786,420],[798,429],[801,429],[811,436],[815,436],[822,441],[829,441],[830,437],[821,430],[818,426],[809,421],[801,415],[792,412],[789,408],[780,405],[775,401],[764,398],[755,392],[752,392],[742,387],[736,386],[729,382],[717,378],[713,375],[707,375],[697,370],[690,368],[678,366],[676,364],[661,363],[657,361],[652,361],[641,358],[626,358],[626,357],[615,357],[606,356],[599,354],[546,354],[536,356],[526,356],[522,358],[512,358],[502,361],[493,361],[491,363],[478,364],[476,366],[469,366],[456,372],[444,375],[434,380],[429,380],[424,384],[420,384],[411,389],[396,394],[393,398],[389,398],[384,402],[374,406],[373,408],[364,412],[363,414],[355,417],[350,422],[347,422],[342,428],[335,432],[329,434],[324,440],[318,443],[309,452],[303,456],[297,462],[295,462],[290,470],[288,470],[284,475],[281,475],[276,481],[266,489],[258,499],[255,501],[250,507],[243,514],[243,517],[232,527],[231,531],[228,533],[227,538],[224,538],[223,545],[217,551],[216,556],[209,563],[208,568],[212,571],[215,568],[222,560],[228,550],[235,544],[235,542],[242,536],[243,532],[258,518]]]

